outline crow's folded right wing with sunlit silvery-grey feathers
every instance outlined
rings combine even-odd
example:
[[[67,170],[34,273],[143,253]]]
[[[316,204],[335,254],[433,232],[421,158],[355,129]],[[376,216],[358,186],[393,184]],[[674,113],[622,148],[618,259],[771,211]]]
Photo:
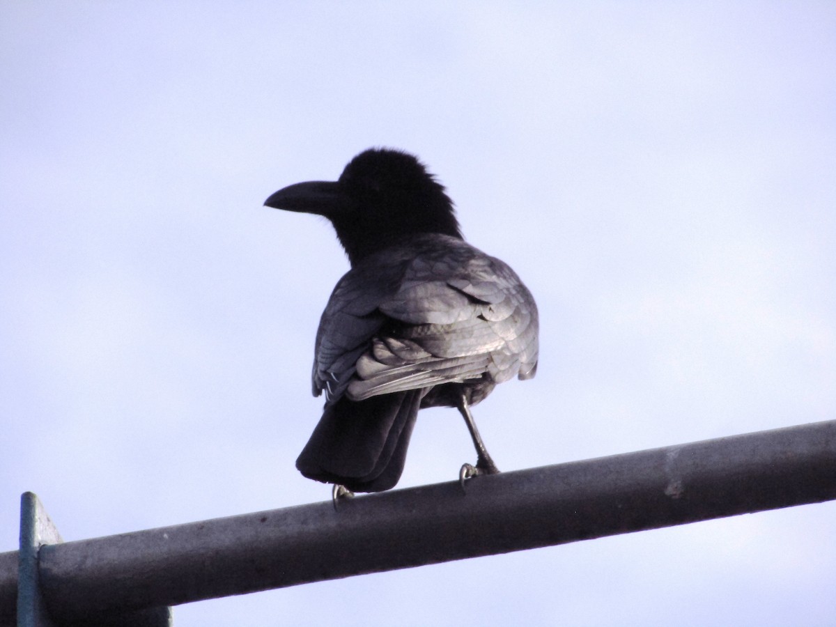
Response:
[[[439,241],[440,239],[440,241]],[[461,240],[436,237],[380,300],[379,327],[352,352],[352,400],[431,385],[534,375],[537,306],[505,263]],[[391,286],[390,286],[391,288]],[[368,315],[368,314],[367,314]]]

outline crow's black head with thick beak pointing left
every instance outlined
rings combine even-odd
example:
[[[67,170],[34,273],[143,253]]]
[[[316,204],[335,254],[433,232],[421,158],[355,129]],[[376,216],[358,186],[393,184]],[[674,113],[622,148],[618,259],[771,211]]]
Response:
[[[266,206],[327,217],[352,264],[401,237],[461,238],[453,203],[426,167],[400,150],[365,150],[338,181],[308,181],[277,191]]]

